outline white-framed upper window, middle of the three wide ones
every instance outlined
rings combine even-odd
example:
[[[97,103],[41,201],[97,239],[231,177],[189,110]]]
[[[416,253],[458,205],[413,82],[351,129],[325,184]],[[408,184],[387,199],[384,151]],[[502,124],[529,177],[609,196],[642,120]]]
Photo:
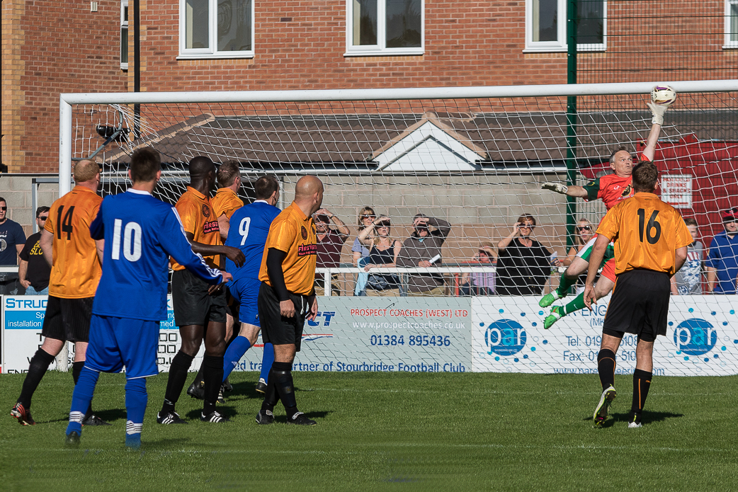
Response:
[[[347,0],[346,53],[422,55],[424,0]]]

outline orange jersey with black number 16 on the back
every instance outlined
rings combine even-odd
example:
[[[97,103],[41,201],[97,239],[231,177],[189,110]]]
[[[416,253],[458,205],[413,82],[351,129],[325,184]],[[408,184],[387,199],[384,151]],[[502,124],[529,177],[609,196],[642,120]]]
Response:
[[[643,268],[675,273],[675,252],[692,244],[679,212],[653,193],[635,193],[604,216],[597,234],[615,241],[615,274]]]

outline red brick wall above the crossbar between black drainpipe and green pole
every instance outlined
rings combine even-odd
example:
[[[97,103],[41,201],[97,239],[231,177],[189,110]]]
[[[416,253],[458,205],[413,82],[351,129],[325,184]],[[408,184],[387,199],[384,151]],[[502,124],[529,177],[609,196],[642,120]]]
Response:
[[[364,89],[566,81],[564,53],[523,54],[524,0],[427,0],[425,15],[424,55],[344,57],[345,0],[256,0],[253,59],[176,60],[178,3],[147,1],[141,19],[142,89]]]

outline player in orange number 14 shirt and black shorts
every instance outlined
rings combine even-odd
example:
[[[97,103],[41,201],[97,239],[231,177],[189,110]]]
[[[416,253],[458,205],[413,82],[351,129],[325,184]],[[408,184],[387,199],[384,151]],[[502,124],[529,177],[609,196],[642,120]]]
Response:
[[[77,162],[74,177],[76,186],[52,204],[38,241],[52,269],[49,300],[41,328],[44,343],[31,358],[21,395],[10,411],[10,415],[24,426],[35,425],[30,412],[31,398],[49,364],[67,341],[75,342],[75,361],[72,364],[75,384],[85,364],[92,300],[102,274],[103,240],[93,240],[89,229],[103,201],[97,196],[100,167],[91,160]],[[90,406],[83,425],[109,424],[94,415]]]

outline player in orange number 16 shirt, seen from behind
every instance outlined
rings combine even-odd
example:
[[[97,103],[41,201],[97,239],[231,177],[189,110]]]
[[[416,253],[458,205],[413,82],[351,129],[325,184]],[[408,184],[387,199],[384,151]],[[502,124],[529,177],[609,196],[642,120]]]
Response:
[[[655,195],[658,171],[652,162],[633,168],[635,196],[615,205],[597,228],[587,271],[584,303],[592,309],[594,280],[607,244],[615,242],[615,288],[602,325],[597,370],[602,394],[594,413],[596,426],[607,420],[615,399],[615,353],[625,333],[638,335],[633,372],[633,399],[628,427],[641,427],[641,413],[652,380],[653,343],[666,335],[671,277],[679,271],[692,244],[679,212]]]

